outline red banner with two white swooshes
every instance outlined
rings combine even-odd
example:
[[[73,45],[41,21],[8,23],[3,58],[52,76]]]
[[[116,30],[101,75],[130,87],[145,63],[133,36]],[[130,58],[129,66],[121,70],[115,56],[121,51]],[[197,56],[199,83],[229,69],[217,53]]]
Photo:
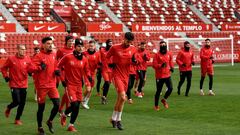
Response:
[[[29,23],[28,32],[65,32],[63,23]]]

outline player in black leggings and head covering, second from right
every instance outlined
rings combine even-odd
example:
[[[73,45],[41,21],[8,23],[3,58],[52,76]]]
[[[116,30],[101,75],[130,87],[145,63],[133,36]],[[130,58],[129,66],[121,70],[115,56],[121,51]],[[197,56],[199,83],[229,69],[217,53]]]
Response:
[[[188,96],[190,87],[191,87],[191,79],[192,79],[192,65],[195,65],[194,62],[194,54],[190,50],[190,43],[188,41],[184,42],[184,47],[178,52],[176,62],[179,66],[180,71],[180,81],[178,83],[178,91],[177,94],[181,93],[181,86],[187,78],[187,87],[185,96]]]

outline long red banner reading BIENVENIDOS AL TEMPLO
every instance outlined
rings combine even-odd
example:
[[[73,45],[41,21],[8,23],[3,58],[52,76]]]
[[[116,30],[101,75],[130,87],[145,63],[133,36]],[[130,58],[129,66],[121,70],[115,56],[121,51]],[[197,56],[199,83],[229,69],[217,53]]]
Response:
[[[211,24],[133,24],[133,32],[196,32],[212,31]]]

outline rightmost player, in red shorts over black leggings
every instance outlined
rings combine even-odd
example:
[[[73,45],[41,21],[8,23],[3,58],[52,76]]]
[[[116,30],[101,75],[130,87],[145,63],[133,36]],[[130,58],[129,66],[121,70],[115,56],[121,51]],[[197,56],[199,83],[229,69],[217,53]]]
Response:
[[[203,96],[203,82],[205,79],[206,74],[209,77],[209,93],[210,96],[215,96],[215,93],[212,91],[213,86],[213,50],[211,49],[211,40],[205,40],[205,46],[201,48],[200,51],[200,59],[201,59],[201,80],[200,80],[200,95]]]

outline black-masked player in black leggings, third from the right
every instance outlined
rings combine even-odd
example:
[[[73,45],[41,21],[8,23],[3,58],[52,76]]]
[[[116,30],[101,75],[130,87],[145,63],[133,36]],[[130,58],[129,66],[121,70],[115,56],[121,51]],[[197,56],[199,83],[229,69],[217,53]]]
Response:
[[[167,50],[167,45],[165,41],[160,42],[159,53],[155,54],[153,58],[153,68],[155,69],[157,85],[154,109],[158,111],[160,109],[158,102],[163,84],[165,83],[167,86],[167,91],[164,95],[164,98],[161,100],[165,108],[168,108],[167,98],[171,95],[173,89],[171,80],[171,72],[174,71],[172,53]]]

